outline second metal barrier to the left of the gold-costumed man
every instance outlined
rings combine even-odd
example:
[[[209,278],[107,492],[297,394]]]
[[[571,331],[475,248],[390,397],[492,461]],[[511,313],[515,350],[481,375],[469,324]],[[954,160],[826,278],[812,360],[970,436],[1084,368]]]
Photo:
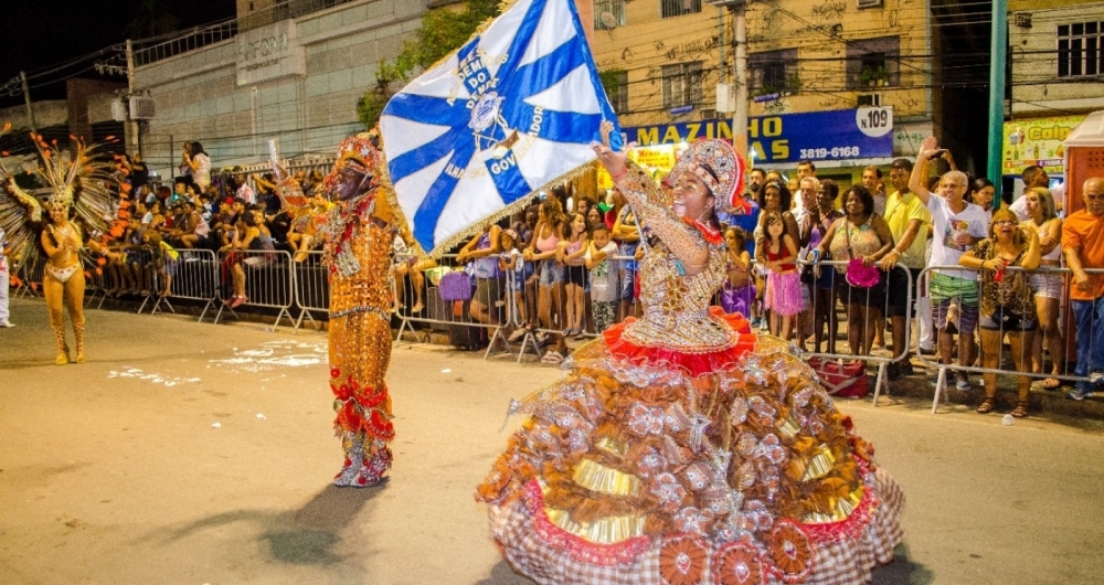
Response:
[[[236,262],[227,260],[233,255]],[[277,309],[276,321],[269,331],[275,331],[284,317],[294,326],[291,318],[291,304],[294,302],[293,289],[293,267],[291,255],[285,251],[258,251],[237,249],[220,256],[222,269],[226,270],[226,278],[220,281],[223,286],[220,289],[219,299],[223,302],[215,313],[214,322],[217,323],[224,310],[229,310],[235,318],[237,313],[230,307],[233,294],[233,277],[230,276],[231,265],[238,264],[245,270],[245,297],[243,305],[251,307],[267,307]]]

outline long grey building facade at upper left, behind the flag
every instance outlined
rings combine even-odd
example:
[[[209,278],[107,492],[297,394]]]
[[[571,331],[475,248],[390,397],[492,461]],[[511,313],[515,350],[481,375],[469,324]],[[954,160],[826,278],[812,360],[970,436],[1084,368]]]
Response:
[[[151,170],[174,174],[185,140],[219,168],[265,160],[272,139],[287,158],[330,153],[363,129],[358,100],[427,3],[245,0],[235,22],[141,47],[136,89],[156,106],[141,132]]]

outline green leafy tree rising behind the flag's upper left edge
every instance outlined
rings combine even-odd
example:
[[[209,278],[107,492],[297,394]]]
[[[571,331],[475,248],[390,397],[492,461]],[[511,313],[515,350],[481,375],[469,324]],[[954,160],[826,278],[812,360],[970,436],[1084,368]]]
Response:
[[[394,95],[392,86],[405,83],[415,72],[425,71],[456,51],[488,19],[500,12],[498,0],[465,0],[463,10],[434,8],[422,17],[422,28],[414,39],[403,42],[403,50],[394,61],[380,62],[375,85],[368,88],[357,102],[360,121],[371,128],[380,121],[388,100]]]

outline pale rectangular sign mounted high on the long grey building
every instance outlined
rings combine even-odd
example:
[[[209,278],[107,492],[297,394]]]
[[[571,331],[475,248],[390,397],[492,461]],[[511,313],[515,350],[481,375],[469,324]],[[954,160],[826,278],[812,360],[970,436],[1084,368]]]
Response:
[[[237,85],[307,74],[307,56],[294,20],[237,35]]]

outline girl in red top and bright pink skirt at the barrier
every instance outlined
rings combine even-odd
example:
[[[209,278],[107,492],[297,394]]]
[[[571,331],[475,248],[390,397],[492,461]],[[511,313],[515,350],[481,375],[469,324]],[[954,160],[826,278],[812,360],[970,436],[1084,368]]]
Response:
[[[764,308],[771,311],[771,334],[789,340],[794,316],[802,312],[802,277],[794,264],[797,242],[786,233],[786,223],[778,212],[767,213],[763,227],[763,242],[755,259],[769,270]]]

